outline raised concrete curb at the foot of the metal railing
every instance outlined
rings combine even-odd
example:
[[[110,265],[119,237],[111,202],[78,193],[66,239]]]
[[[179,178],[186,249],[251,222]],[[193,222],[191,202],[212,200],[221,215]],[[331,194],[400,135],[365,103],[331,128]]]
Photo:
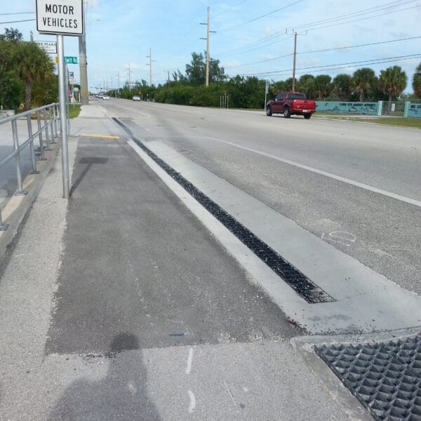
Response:
[[[54,166],[60,150],[59,142],[53,143],[51,147],[51,151],[45,152],[46,161],[37,161],[36,163],[39,174],[29,174],[23,182],[23,188],[28,193],[25,196],[11,196],[6,199],[4,206],[1,208],[3,222],[7,222],[9,227],[6,231],[0,232],[0,259],[3,258],[8,245],[15,238],[20,223],[25,218],[27,211],[41,191],[48,173]]]

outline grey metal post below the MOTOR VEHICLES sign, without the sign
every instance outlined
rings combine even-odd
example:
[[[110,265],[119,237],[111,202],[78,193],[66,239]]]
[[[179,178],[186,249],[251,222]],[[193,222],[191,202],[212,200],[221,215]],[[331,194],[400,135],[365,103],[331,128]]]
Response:
[[[57,53],[58,53],[58,85],[60,97],[60,135],[62,148],[62,178],[63,178],[63,197],[69,199],[69,152],[67,146],[67,127],[66,127],[66,97],[67,89],[65,83],[65,54],[63,36],[57,35]]]

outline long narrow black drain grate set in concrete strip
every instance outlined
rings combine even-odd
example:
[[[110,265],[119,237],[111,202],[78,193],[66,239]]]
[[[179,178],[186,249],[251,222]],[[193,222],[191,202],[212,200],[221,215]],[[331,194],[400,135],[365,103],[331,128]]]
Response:
[[[335,300],[326,293],[323,289],[310,281],[305,274],[302,274],[296,267],[290,264],[281,255],[260,240],[253,232],[241,225],[232,215],[229,215],[217,203],[210,199],[206,194],[194,187],[191,182],[186,180],[180,173],[169,166],[159,156],[154,154],[147,148],[140,140],[133,136],[130,129],[128,129],[119,119],[113,117],[113,120],[123,127],[123,129],[131,136],[136,144],[153,159],[168,175],[178,182],[189,194],[191,194],[196,201],[206,208],[222,225],[229,229],[243,244],[245,244],[255,255],[266,263],[283,281],[295,290],[298,295],[304,298],[307,302],[315,304],[320,302],[334,302]]]

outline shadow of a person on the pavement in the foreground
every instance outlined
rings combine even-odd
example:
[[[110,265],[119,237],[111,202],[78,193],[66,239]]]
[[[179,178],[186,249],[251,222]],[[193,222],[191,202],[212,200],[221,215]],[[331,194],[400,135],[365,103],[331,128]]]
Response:
[[[133,352],[123,352],[131,351]],[[147,373],[138,338],[121,333],[109,348],[109,369],[104,380],[78,380],[60,397],[48,421],[160,421],[147,396]]]

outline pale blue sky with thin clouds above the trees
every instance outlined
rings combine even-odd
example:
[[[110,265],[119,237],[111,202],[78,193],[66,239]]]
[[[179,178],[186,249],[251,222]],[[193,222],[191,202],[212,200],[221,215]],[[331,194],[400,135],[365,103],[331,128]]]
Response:
[[[219,59],[229,75],[256,74],[275,81],[292,76],[295,30],[297,76],[352,74],[359,67],[379,74],[399,65],[408,75],[406,91],[412,91],[410,81],[421,62],[421,0],[88,0],[91,91],[104,84],[115,88],[118,74],[121,86],[128,80],[129,63],[132,81],[149,82],[149,48],[155,60],[152,83],[164,83],[168,72],[184,72],[192,52],[206,49],[200,39],[206,25],[200,23],[206,22],[208,6],[210,30],[216,31],[210,37],[210,57]],[[0,22],[34,19],[34,11],[34,0],[1,0]],[[5,27],[18,28],[25,39],[31,31],[34,39],[55,39],[38,34],[34,21],[0,23],[1,33]],[[65,37],[65,55],[79,55],[76,38]],[[79,81],[79,66],[69,65],[69,70]]]

